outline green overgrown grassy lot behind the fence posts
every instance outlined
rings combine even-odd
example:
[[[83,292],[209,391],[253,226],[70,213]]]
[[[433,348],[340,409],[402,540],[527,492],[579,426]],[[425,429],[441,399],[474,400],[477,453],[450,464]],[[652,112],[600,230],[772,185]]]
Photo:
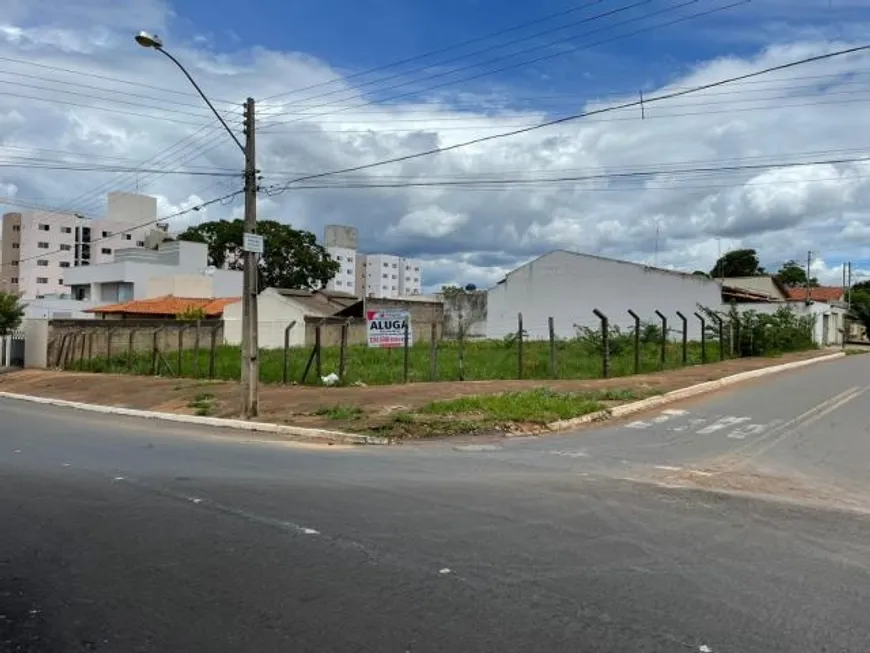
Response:
[[[633,347],[616,343],[611,352],[611,376],[627,376],[634,373]],[[525,379],[594,379],[602,375],[600,347],[582,339],[561,340],[556,342],[556,374],[550,374],[550,347],[548,342],[530,341],[523,347],[523,378]],[[289,352],[289,380],[299,383],[302,372],[311,353],[311,348],[292,348]],[[675,369],[682,366],[682,346],[668,343],[664,368],[660,360],[660,345],[647,343],[641,345],[641,373],[661,369]],[[178,376],[177,351],[162,352],[159,374]],[[714,340],[707,342],[707,361],[719,360],[719,346]],[[165,363],[163,362],[165,361]],[[689,365],[701,363],[700,343],[688,344]],[[151,352],[136,352],[130,359],[126,353],[105,358],[85,361],[82,369],[92,372],[127,372],[131,374],[150,374]],[[169,369],[166,365],[168,364]],[[388,385],[404,380],[404,352],[402,349],[370,349],[365,345],[349,346],[346,359],[345,384],[365,383],[367,385]],[[265,383],[280,383],[284,366],[282,350],[267,349],[260,352],[260,377]],[[71,366],[79,369],[78,363]],[[429,343],[413,345],[408,350],[408,381],[454,381],[516,379],[519,377],[519,348],[516,342],[484,340],[467,342],[462,347],[460,376],[460,347],[456,342],[441,342],[436,355],[436,376],[430,376]],[[198,369],[198,373],[197,373]],[[239,378],[240,353],[238,347],[220,346],[215,351],[215,378],[235,380]],[[323,375],[339,371],[338,347],[325,347],[322,350],[321,369]],[[198,359],[192,350],[182,352],[181,376],[206,377],[209,370],[209,351],[203,349]],[[308,383],[319,383],[316,368],[312,365],[307,378]]]

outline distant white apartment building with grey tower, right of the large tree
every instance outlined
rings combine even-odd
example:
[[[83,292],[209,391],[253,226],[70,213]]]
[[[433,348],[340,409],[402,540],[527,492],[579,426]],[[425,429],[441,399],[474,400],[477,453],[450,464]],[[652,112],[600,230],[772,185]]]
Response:
[[[354,227],[326,227],[325,247],[341,269],[330,281],[327,290],[336,290],[357,297],[408,297],[423,291],[423,262],[392,254],[361,254]]]

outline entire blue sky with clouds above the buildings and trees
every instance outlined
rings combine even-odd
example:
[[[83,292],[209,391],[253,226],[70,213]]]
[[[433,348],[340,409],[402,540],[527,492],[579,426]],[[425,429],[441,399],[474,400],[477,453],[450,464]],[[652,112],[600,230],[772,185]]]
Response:
[[[4,0],[0,210],[161,215],[241,188],[257,101],[262,219],[424,261],[427,290],[488,287],[552,249],[693,271],[720,252],[870,275],[870,54],[693,92],[870,43],[866,0]],[[620,104],[638,103],[624,109]],[[288,183],[555,126],[434,155]],[[66,169],[65,169],[66,168]],[[68,169],[75,168],[75,169]],[[218,176],[220,175],[220,176]],[[280,191],[280,192],[279,192]],[[241,217],[240,198],[170,220]]]

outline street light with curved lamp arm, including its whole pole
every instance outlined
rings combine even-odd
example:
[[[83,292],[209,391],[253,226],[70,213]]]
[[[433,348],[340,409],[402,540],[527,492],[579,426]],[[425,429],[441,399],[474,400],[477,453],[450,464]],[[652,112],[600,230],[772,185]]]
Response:
[[[245,102],[244,132],[245,144],[230,129],[214,105],[203,93],[199,84],[175,57],[163,49],[163,41],[156,34],[139,32],[133,37],[143,48],[157,50],[178,66],[188,81],[199,93],[200,97],[212,110],[215,117],[233,139],[245,156],[245,238],[244,250],[244,290],[242,296],[242,415],[247,418],[256,417],[260,404],[260,360],[257,343],[257,254],[262,254],[262,239],[248,238],[248,234],[257,233],[257,166],[255,130],[254,130],[254,100],[248,98]]]

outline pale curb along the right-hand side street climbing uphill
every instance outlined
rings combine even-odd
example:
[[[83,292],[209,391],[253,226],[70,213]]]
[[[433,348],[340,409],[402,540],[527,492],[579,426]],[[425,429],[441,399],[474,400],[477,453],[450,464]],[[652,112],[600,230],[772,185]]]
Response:
[[[580,417],[574,417],[572,419],[563,419],[557,422],[550,422],[549,424],[547,424],[546,428],[549,431],[566,431],[572,428],[576,428],[578,426],[591,424],[593,422],[603,422],[609,419],[625,417],[626,415],[633,415],[634,413],[639,413],[644,410],[649,410],[651,408],[657,408],[658,406],[671,404],[675,401],[680,401],[681,399],[688,399],[689,397],[696,397],[698,395],[706,394],[708,392],[713,392],[714,390],[727,388],[728,386],[736,385],[743,381],[749,381],[751,379],[757,379],[762,376],[777,374],[778,372],[785,372],[787,370],[794,370],[801,367],[806,367],[808,365],[815,365],[816,363],[824,363],[826,361],[832,361],[837,358],[843,358],[845,356],[845,352],[837,352],[836,354],[830,354],[828,356],[818,356],[816,358],[808,358],[802,361],[794,361],[792,363],[784,363],[782,365],[773,365],[772,367],[762,367],[757,370],[749,370],[748,372],[738,372],[737,374],[725,376],[715,381],[706,381],[704,383],[698,383],[697,385],[690,385],[688,388],[671,390],[670,392],[666,392],[665,394],[659,395],[657,397],[649,397],[648,399],[633,401],[630,404],[614,406],[613,408],[608,408],[607,410],[600,410],[596,413],[589,413],[588,415],[582,415]]]

